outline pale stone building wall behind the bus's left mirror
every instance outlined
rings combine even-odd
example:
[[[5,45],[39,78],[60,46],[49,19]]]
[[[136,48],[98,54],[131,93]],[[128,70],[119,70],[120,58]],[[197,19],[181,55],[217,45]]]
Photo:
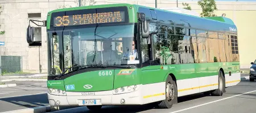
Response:
[[[42,28],[42,46],[29,46],[26,40],[28,20],[46,20],[48,11],[55,10],[59,6],[73,5],[73,1],[65,0],[2,0],[2,15],[0,24],[6,31],[0,36],[2,55],[21,56],[21,70],[23,72],[42,73],[47,72],[47,35],[46,27]],[[28,18],[28,14],[40,13],[40,18]],[[31,24],[31,26],[35,26]]]

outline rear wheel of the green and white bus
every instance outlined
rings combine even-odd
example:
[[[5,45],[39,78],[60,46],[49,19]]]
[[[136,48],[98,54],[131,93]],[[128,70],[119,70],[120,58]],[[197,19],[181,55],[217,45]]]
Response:
[[[214,96],[222,96],[225,92],[225,78],[222,71],[218,72],[218,89],[214,90],[211,94]]]

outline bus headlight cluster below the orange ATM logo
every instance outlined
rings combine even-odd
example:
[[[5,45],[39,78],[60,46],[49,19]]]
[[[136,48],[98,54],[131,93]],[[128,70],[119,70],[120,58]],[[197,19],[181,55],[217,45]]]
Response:
[[[113,94],[130,93],[135,92],[138,89],[139,85],[123,86],[121,88],[114,89]]]

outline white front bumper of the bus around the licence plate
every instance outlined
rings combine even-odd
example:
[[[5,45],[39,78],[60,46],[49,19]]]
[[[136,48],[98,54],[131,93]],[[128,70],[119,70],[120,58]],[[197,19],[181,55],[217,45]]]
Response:
[[[88,106],[83,100],[97,100],[96,105],[142,105],[141,89],[134,92],[113,94],[114,90],[102,92],[66,92],[67,96],[52,95],[48,93],[50,106]],[[94,95],[88,95],[94,94]],[[124,101],[123,101],[124,100]]]

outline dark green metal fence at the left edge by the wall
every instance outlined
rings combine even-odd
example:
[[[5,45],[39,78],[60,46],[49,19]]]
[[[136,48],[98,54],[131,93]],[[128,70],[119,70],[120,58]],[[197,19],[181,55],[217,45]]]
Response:
[[[2,72],[21,71],[21,56],[2,56]]]

